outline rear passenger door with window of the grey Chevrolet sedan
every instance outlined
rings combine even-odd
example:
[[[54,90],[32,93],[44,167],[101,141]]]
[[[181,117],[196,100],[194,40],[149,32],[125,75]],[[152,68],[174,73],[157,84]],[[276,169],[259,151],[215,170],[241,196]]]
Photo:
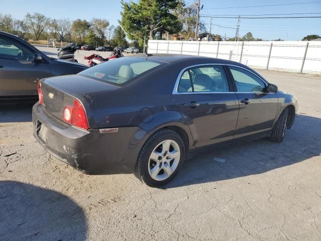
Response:
[[[224,65],[202,64],[182,70],[173,99],[197,150],[233,140],[239,103]]]

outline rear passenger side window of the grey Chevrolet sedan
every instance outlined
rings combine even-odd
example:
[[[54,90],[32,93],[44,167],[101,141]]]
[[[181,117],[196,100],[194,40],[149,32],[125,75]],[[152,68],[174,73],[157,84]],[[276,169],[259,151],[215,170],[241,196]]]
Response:
[[[208,65],[186,70],[181,76],[178,92],[229,92],[223,66]]]

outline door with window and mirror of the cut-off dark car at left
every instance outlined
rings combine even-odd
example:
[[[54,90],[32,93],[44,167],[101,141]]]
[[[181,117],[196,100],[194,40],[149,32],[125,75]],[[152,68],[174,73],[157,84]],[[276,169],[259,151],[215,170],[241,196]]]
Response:
[[[0,96],[37,95],[38,80],[50,77],[48,64],[34,62],[34,51],[0,35]]]

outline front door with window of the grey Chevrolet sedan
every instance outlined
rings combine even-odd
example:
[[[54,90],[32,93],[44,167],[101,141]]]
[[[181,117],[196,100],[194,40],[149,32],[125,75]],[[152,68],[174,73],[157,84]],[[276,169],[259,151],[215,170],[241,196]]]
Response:
[[[228,66],[240,101],[234,139],[259,135],[271,130],[277,112],[276,93],[266,93],[266,83],[249,70]]]

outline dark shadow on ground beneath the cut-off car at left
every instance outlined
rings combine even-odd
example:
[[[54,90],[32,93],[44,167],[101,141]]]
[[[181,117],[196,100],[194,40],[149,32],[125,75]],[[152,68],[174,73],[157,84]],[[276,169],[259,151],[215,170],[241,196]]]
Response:
[[[15,100],[0,102],[0,123],[31,122],[32,106],[37,100]]]

